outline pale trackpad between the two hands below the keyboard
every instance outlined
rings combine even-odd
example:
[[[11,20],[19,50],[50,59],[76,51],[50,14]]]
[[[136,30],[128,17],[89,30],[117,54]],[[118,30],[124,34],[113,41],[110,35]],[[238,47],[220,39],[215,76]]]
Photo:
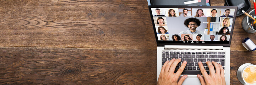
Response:
[[[198,78],[186,78],[182,85],[201,85]]]

